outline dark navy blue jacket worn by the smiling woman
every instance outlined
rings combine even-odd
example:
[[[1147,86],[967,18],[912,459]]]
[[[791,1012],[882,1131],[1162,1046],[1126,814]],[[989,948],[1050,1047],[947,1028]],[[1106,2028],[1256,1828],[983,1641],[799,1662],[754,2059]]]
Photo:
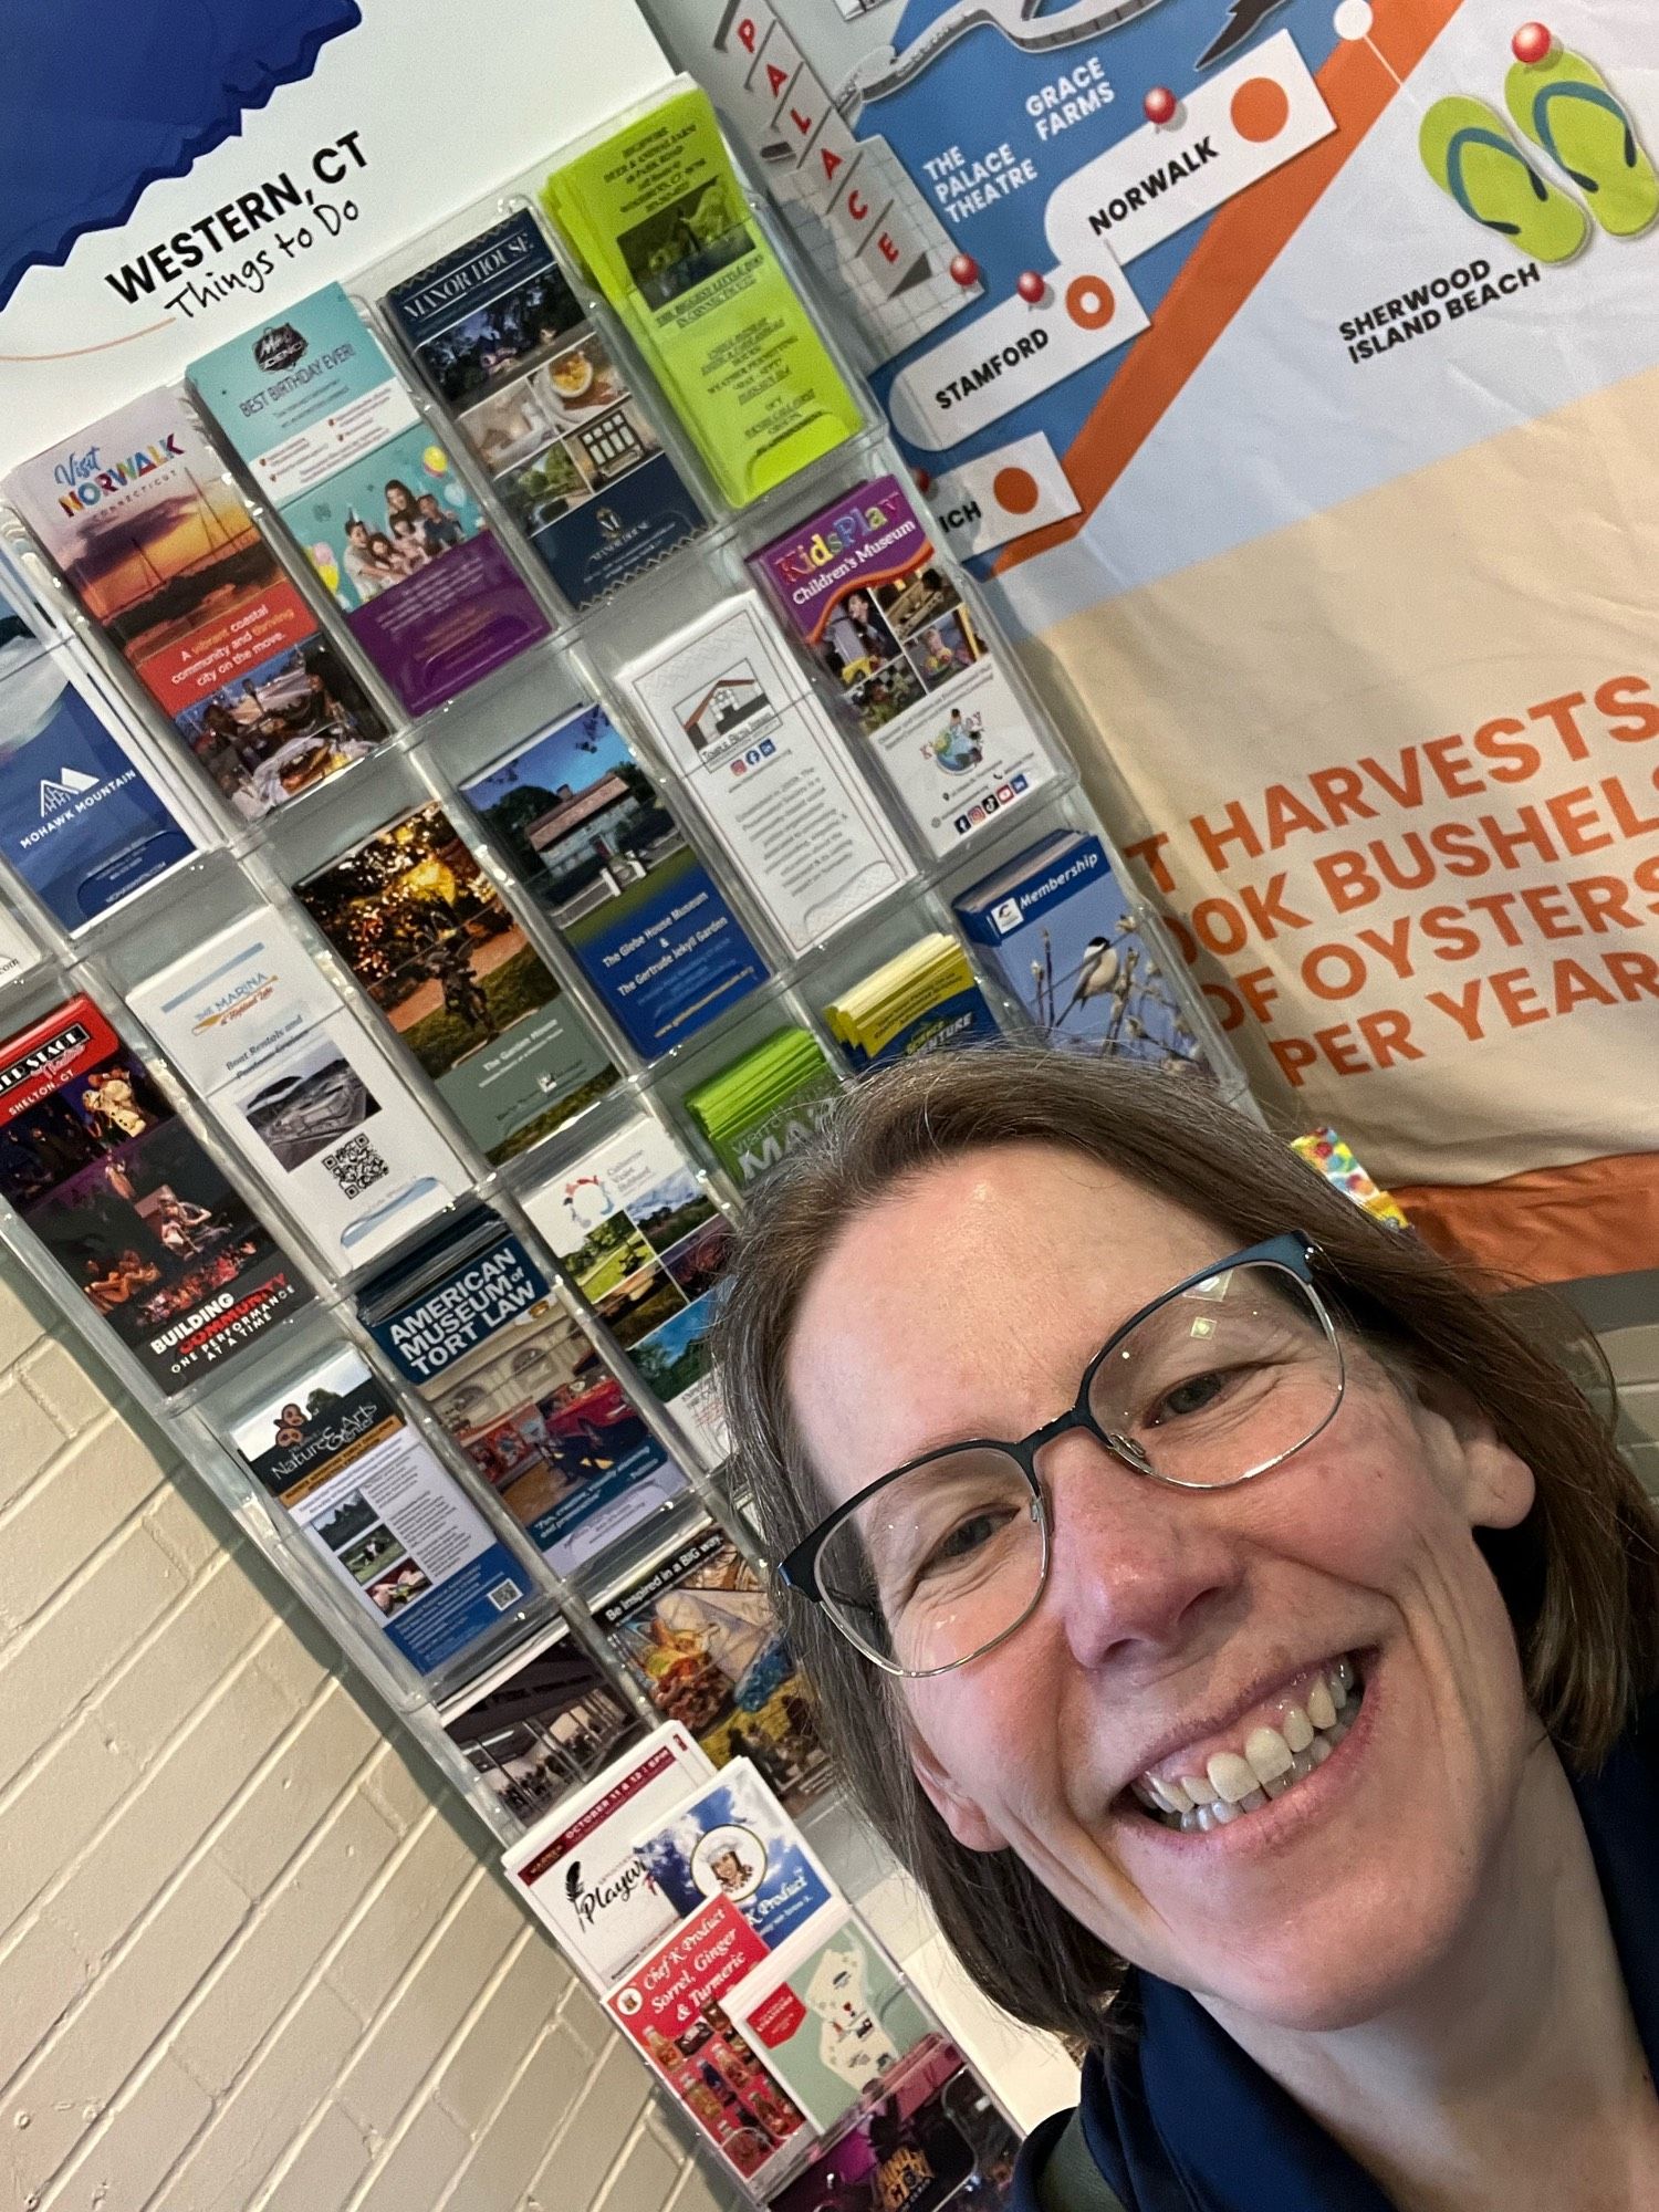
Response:
[[[1637,2033],[1659,2077],[1659,1699],[1593,1781],[1575,1781]],[[1376,2181],[1181,1989],[1135,1975],[1139,2035],[1088,2059],[1084,2137],[1126,2212],[1391,2212]],[[1066,2115],[1026,2141],[1015,2212]]]

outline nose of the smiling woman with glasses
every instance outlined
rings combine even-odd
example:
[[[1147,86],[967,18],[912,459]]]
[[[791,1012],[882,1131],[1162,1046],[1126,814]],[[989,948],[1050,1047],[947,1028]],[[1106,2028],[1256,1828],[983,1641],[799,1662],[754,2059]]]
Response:
[[[1239,1593],[1245,1551],[1225,1491],[1133,1473],[1091,1436],[1046,1453],[1053,1557],[1044,1606],[1084,1668],[1157,1657],[1208,1635]]]

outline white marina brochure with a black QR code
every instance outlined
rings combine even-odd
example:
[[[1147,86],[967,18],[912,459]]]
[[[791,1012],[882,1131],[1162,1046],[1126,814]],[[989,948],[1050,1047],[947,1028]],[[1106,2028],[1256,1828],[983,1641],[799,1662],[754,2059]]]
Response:
[[[456,1148],[270,907],[128,1004],[332,1265],[367,1265],[469,1188]]]

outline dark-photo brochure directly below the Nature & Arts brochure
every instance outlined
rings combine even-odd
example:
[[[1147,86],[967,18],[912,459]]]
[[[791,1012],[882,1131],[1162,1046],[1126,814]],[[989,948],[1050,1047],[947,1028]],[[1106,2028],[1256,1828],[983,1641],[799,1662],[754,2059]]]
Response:
[[[551,1628],[438,1708],[442,1732],[520,1827],[591,1783],[639,1719],[568,1628]]]

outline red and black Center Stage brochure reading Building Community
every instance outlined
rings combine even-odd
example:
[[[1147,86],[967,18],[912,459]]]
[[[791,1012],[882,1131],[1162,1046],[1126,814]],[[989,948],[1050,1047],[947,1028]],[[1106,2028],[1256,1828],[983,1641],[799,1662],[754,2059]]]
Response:
[[[0,1044],[0,1192],[166,1396],[312,1298],[88,998]]]

